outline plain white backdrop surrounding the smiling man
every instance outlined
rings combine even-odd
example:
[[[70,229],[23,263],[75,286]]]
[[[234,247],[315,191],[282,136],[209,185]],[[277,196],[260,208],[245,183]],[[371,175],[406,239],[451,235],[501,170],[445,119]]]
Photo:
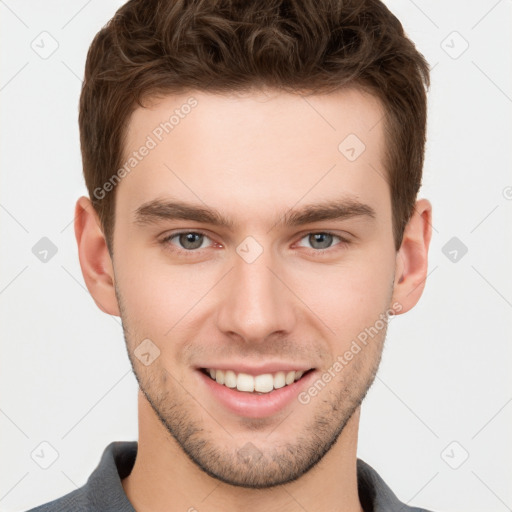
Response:
[[[137,439],[120,321],[87,292],[72,225],[86,52],[121,3],[0,1],[2,511],[82,486],[108,443]],[[434,232],[424,295],[391,322],[359,456],[411,505],[511,510],[512,2],[386,3],[432,67],[420,197]],[[58,42],[47,59],[31,48],[43,31]],[[58,249],[47,263],[32,253],[42,237]],[[452,237],[468,248],[455,263]],[[31,458],[43,441],[58,452],[48,469]]]

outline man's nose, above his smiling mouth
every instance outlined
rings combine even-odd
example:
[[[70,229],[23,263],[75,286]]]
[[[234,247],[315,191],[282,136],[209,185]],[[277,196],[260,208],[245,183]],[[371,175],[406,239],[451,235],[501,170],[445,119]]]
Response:
[[[288,336],[295,327],[297,304],[284,283],[270,251],[263,251],[252,263],[236,254],[234,268],[219,290],[223,297],[217,310],[219,330],[247,343]]]

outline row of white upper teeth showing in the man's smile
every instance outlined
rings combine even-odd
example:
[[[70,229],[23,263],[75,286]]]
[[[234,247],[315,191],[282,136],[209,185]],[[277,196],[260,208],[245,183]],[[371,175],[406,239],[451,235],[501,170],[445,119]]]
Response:
[[[253,377],[247,373],[237,374],[233,370],[215,370],[213,368],[207,368],[206,373],[219,384],[247,393],[269,393],[274,389],[293,384],[304,375],[303,371],[290,371],[274,374],[264,373]]]

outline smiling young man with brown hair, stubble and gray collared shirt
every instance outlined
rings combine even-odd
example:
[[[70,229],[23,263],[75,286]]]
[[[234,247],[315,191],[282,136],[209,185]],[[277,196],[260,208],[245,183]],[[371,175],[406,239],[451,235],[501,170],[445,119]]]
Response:
[[[418,510],[356,448],[427,275],[428,85],[376,0],[119,9],[87,57],[75,232],[139,440],[33,510]]]

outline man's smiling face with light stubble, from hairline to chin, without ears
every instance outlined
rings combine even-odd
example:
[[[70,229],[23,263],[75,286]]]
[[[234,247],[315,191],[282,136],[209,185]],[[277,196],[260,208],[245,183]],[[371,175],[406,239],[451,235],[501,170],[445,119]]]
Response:
[[[219,480],[297,479],[373,381],[397,308],[382,116],[357,90],[259,91],[168,96],[130,119],[113,254],[128,354]]]

